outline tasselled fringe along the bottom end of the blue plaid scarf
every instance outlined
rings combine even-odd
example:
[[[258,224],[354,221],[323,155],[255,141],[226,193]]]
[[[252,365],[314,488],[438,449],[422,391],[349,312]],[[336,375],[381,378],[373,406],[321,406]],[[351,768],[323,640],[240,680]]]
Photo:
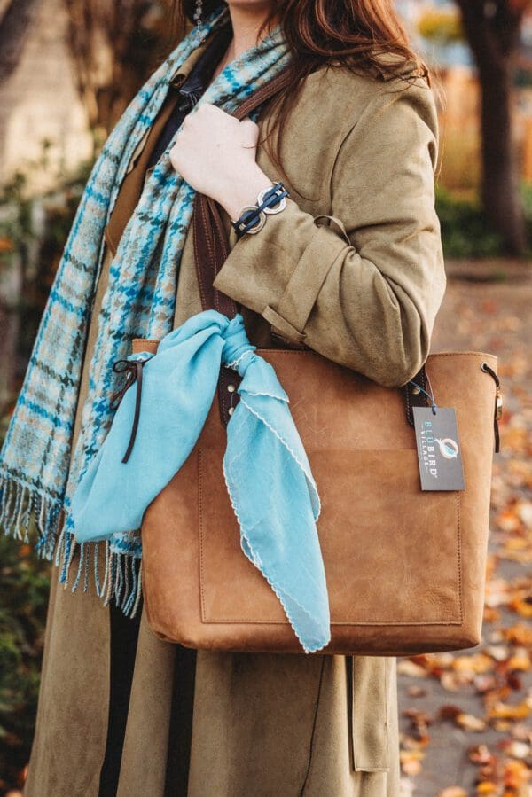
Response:
[[[0,528],[4,534],[29,544],[36,530],[35,551],[39,559],[53,560],[59,567],[59,582],[65,589],[69,586],[72,566],[76,565],[74,554],[79,550],[71,591],[75,592],[81,582],[83,592],[89,589],[91,570],[96,594],[104,606],[113,601],[127,617],[135,617],[142,597],[141,559],[111,551],[108,540],[77,543],[62,520],[62,502],[43,496],[8,474],[0,474]],[[98,562],[100,545],[105,549],[103,582]]]

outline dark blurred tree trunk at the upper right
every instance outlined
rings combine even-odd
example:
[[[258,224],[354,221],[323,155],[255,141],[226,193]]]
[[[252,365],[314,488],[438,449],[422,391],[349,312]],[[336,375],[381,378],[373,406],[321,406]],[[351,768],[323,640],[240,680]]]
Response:
[[[457,0],[481,82],[482,201],[508,252],[527,234],[512,142],[512,75],[528,0]]]

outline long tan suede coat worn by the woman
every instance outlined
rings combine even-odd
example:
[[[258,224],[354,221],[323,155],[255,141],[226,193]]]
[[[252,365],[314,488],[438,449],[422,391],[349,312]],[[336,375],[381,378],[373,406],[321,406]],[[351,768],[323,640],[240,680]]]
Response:
[[[258,235],[232,236],[216,280],[244,306],[251,340],[271,345],[273,324],[386,385],[419,369],[445,282],[436,136],[425,83],[335,67],[306,79],[281,153],[286,211]],[[258,161],[278,178],[263,146]],[[111,259],[109,249],[93,318]],[[189,235],[176,324],[199,310]],[[93,323],[87,359],[95,334]],[[109,656],[108,608],[91,584],[63,590],[54,571],[26,797],[98,797]],[[176,646],[154,637],[143,615],[119,797],[165,793],[175,660]],[[398,793],[395,659],[199,652],[189,797]]]

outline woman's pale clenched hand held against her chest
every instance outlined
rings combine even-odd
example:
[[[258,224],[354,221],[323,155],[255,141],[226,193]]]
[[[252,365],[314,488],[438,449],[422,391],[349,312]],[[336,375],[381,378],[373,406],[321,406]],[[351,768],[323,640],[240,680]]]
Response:
[[[215,105],[200,105],[184,120],[170,151],[172,166],[195,191],[215,199],[236,219],[271,180],[255,162],[259,128]]]

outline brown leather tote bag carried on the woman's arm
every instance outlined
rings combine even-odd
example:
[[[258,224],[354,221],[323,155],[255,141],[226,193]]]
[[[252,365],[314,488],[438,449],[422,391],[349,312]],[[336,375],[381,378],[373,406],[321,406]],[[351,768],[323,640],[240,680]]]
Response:
[[[253,98],[240,118],[250,105]],[[203,308],[232,316],[233,302],[212,285],[227,241],[205,197],[197,198],[194,236]],[[156,347],[134,341],[136,351]],[[456,410],[465,475],[464,490],[424,492],[411,411],[425,398],[416,387],[381,387],[310,350],[259,353],[290,397],[322,501],[317,527],[332,631],[323,652],[395,656],[477,645],[497,358],[434,354],[416,377],[428,388],[428,375],[438,406]],[[240,549],[222,469],[238,377],[222,371],[195,449],[145,512],[147,619],[158,637],[193,648],[302,652],[278,598]]]

